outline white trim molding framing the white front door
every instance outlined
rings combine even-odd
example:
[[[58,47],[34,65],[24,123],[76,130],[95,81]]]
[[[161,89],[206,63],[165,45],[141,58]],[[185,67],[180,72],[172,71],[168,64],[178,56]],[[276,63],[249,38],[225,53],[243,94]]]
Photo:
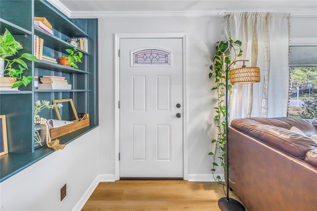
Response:
[[[145,33],[114,34],[114,171],[115,180],[120,180],[120,39],[124,38],[180,38],[183,47],[183,179],[188,180],[188,144],[187,144],[187,34],[186,33]]]

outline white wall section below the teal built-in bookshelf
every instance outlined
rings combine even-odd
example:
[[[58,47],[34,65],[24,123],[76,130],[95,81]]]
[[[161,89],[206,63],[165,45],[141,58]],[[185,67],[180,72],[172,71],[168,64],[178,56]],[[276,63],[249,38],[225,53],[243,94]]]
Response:
[[[72,210],[98,177],[98,148],[99,127],[4,180],[0,183],[0,210]],[[66,197],[60,201],[65,183]]]

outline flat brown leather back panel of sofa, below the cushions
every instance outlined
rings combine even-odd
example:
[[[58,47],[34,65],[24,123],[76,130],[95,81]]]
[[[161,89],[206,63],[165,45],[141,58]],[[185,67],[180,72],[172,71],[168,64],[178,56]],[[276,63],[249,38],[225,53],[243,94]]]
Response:
[[[230,187],[249,211],[313,211],[317,168],[228,127]]]

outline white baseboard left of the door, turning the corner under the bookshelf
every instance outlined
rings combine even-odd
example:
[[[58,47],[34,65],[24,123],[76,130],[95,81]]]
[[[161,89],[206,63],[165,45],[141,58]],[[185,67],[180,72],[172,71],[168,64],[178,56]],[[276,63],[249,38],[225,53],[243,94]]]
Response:
[[[89,197],[92,195],[94,190],[97,188],[100,182],[114,182],[114,174],[99,174],[96,179],[91,183],[89,188],[85,191],[84,195],[80,198],[78,203],[73,208],[73,211],[81,211]]]

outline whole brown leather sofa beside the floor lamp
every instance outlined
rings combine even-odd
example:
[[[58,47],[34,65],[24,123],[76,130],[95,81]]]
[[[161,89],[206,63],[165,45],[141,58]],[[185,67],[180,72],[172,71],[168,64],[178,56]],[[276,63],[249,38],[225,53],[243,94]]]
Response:
[[[306,136],[289,131],[297,127]],[[241,118],[228,129],[230,188],[248,211],[317,211],[317,120]]]

